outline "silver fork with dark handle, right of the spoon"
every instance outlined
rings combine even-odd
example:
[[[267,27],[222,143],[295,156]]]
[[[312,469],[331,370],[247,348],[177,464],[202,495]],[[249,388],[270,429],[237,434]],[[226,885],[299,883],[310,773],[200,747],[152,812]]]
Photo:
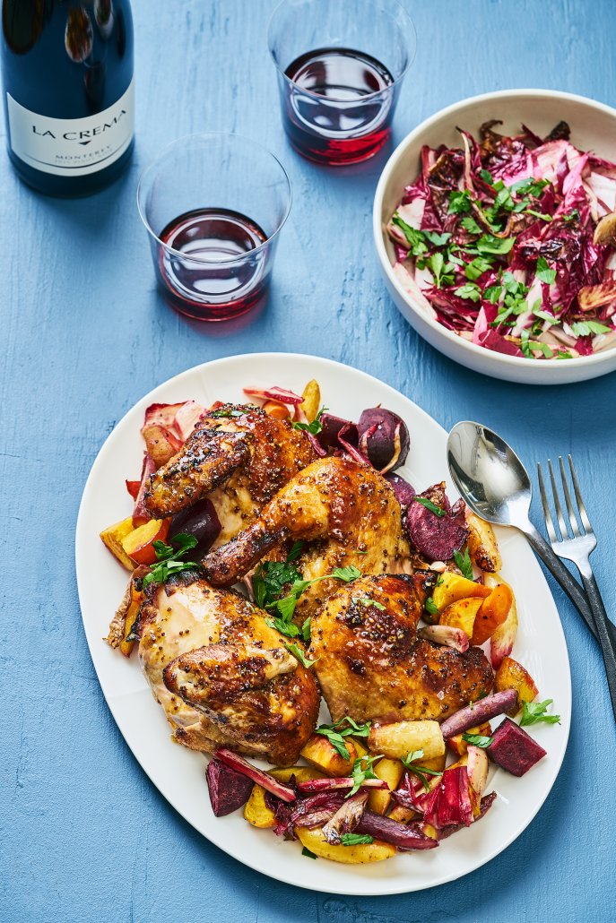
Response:
[[[550,504],[548,502],[546,488],[543,483],[541,465],[540,463],[537,463],[537,475],[539,481],[539,490],[541,492],[541,502],[543,504],[543,515],[545,517],[546,528],[548,530],[548,536],[550,538],[552,550],[556,555],[558,555],[558,557],[564,557],[568,561],[573,561],[574,565],[580,571],[582,576],[582,583],[584,584],[586,596],[588,597],[588,605],[590,605],[590,612],[595,622],[598,641],[601,645],[603,663],[605,664],[605,672],[608,677],[608,686],[610,688],[611,707],[614,712],[614,718],[616,718],[616,650],[614,649],[614,645],[612,644],[608,634],[608,613],[606,612],[605,606],[603,605],[601,593],[599,593],[597,581],[595,580],[595,575],[593,574],[589,561],[590,555],[597,547],[597,537],[593,532],[593,528],[590,524],[590,520],[588,519],[586,507],[580,493],[580,485],[578,484],[577,475],[575,473],[574,460],[572,459],[571,455],[567,457],[569,459],[571,479],[574,485],[575,500],[577,502],[577,515],[571,500],[571,494],[569,493],[569,486],[567,485],[567,477],[564,470],[564,464],[562,462],[562,456],[559,456],[558,461],[561,468],[562,493],[564,495],[564,502],[569,514],[569,526],[567,526],[567,522],[565,521],[565,518],[562,514],[559,490],[556,485],[554,469],[552,468],[552,463],[550,460],[548,460],[548,469],[550,471],[550,481],[552,486],[552,494],[554,497],[554,509],[556,510],[556,518],[559,525],[558,533],[554,528],[554,523],[552,521]]]

